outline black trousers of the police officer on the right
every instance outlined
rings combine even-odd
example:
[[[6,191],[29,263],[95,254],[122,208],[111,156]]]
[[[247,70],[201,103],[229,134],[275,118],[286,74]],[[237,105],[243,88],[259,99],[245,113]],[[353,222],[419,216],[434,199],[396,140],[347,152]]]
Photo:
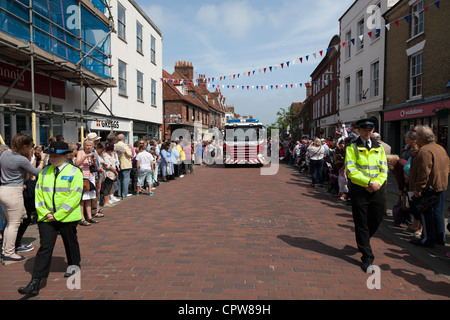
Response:
[[[383,221],[385,203],[383,190],[368,192],[364,187],[352,184],[350,189],[355,237],[361,261],[372,263],[375,259],[370,246],[370,238]]]

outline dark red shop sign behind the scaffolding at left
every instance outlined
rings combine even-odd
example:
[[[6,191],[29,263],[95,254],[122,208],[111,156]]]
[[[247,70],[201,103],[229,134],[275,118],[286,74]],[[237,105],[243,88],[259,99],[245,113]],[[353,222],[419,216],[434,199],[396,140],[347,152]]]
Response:
[[[23,68],[11,64],[0,62],[0,86],[10,87],[19,77]],[[52,97],[66,99],[66,83],[64,81],[52,79]],[[50,80],[48,76],[34,74],[34,91],[38,94],[50,95]],[[19,78],[14,89],[31,92],[31,72],[25,71]]]

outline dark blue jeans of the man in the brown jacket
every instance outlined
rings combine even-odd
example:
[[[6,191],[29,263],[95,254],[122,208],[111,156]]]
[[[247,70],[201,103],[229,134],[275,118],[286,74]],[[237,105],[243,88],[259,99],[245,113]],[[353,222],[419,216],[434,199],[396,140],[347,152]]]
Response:
[[[422,214],[422,243],[434,246],[445,243],[444,192],[438,192],[438,203]]]

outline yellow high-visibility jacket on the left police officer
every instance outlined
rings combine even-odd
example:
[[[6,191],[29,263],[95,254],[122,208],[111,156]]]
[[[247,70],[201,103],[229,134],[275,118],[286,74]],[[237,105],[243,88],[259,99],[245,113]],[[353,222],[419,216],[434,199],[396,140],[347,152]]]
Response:
[[[79,168],[67,164],[55,180],[55,168],[52,165],[44,167],[35,190],[38,221],[50,222],[45,218],[49,213],[60,222],[81,220],[82,195],[83,174]]]

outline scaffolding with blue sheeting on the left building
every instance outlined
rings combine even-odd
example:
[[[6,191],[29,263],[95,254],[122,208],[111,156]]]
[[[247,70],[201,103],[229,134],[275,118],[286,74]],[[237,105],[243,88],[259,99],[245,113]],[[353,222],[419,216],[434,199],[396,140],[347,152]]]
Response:
[[[91,1],[0,0],[0,60],[22,68],[21,73],[0,96],[0,113],[31,115],[31,130],[35,143],[36,115],[49,119],[59,117],[64,121],[80,123],[81,141],[86,121],[112,121],[114,117],[111,90],[116,87],[116,82],[111,76],[111,34],[116,32],[114,19],[109,0]],[[57,7],[58,4],[60,8]],[[45,13],[48,16],[45,16]],[[72,29],[66,22],[72,24]],[[86,22],[84,28],[83,22]],[[28,28],[26,33],[25,25]],[[74,29],[78,30],[78,34],[72,32]],[[101,34],[101,40],[96,39],[98,36],[95,34],[96,31]],[[31,74],[31,108],[24,108],[18,104],[4,104],[5,97],[27,70]],[[36,107],[35,73],[45,74],[49,78],[50,110],[38,110]],[[53,111],[52,79],[80,86],[79,110],[74,108],[73,112]],[[88,90],[92,90],[96,96],[89,107]],[[98,94],[97,90],[101,93]],[[108,90],[109,106],[102,100],[102,95]],[[105,106],[109,114],[97,116],[90,112],[97,101]]]

